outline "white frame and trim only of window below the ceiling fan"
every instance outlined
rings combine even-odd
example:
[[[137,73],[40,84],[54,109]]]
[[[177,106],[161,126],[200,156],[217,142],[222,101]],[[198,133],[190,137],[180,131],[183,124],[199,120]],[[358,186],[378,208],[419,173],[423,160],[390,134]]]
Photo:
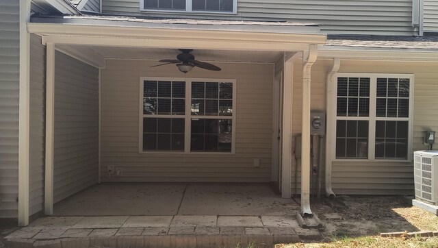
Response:
[[[181,118],[185,119],[185,131],[184,131],[184,151],[143,151],[143,118],[146,114],[143,114],[143,97],[144,97],[144,84],[143,82],[149,81],[177,81],[185,82],[185,114],[184,115],[154,115],[163,118]],[[231,116],[199,116],[200,119],[230,119],[233,121],[231,129],[231,152],[230,151],[190,151],[190,138],[192,130],[192,110],[190,108],[192,102],[192,82],[214,82],[214,83],[231,83],[233,84],[233,114]],[[202,155],[218,155],[218,154],[235,154],[235,131],[236,131],[236,97],[237,87],[236,79],[223,79],[223,78],[198,78],[198,77],[140,77],[140,98],[138,101],[138,153],[142,154],[202,154]],[[151,115],[149,115],[152,117]]]

